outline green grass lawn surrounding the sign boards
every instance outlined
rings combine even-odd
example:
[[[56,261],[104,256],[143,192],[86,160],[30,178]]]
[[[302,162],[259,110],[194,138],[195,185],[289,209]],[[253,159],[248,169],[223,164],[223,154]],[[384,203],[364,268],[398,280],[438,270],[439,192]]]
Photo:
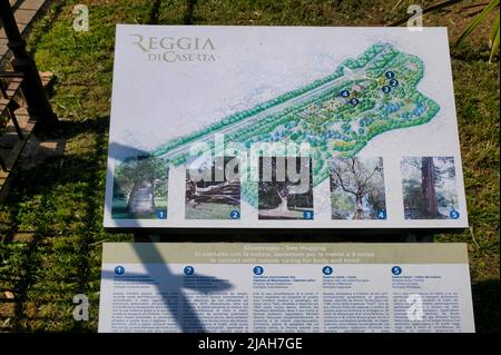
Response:
[[[102,229],[116,23],[382,26],[411,3],[392,11],[396,0],[89,0],[90,31],[76,32],[72,8],[79,2],[53,1],[29,38],[39,69],[57,75],[51,102],[62,124],[48,138],[66,147],[63,155],[16,171],[0,206],[0,332],[95,332],[101,244],[132,240]],[[453,40],[471,20],[461,7],[424,24],[448,26]],[[471,228],[435,236],[469,245],[478,332],[499,331],[500,87],[499,62],[487,63],[488,33],[482,26],[451,48]],[[76,294],[90,297],[89,322],[72,318]]]

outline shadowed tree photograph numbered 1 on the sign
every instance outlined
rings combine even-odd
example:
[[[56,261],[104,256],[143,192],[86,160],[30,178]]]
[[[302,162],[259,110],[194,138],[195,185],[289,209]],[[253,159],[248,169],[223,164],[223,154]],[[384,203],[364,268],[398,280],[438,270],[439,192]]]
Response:
[[[167,218],[168,164],[153,156],[122,161],[115,169],[115,219]]]

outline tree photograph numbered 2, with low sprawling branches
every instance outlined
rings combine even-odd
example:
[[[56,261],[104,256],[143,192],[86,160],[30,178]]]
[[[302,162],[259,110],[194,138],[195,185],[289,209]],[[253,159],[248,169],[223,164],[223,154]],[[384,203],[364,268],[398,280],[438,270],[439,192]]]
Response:
[[[239,219],[238,159],[216,157],[191,162],[186,170],[186,219]]]

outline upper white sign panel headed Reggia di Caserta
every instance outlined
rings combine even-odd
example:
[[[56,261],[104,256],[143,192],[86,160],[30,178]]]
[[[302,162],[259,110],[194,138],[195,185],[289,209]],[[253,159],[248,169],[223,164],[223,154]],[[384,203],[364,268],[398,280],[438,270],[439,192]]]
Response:
[[[105,227],[464,228],[445,28],[118,26]]]

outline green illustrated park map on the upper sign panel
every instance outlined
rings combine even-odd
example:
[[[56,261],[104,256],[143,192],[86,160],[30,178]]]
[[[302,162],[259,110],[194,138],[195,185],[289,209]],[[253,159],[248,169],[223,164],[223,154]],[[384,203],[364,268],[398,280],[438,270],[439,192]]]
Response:
[[[328,178],[334,157],[353,157],[377,135],[423,125],[436,116],[440,106],[416,89],[423,73],[424,63],[416,56],[375,43],[322,79],[169,140],[149,154],[181,166],[194,144],[214,149],[216,134],[246,148],[255,142],[307,142],[313,186],[317,186]],[[257,206],[257,184],[244,183],[242,198]]]

